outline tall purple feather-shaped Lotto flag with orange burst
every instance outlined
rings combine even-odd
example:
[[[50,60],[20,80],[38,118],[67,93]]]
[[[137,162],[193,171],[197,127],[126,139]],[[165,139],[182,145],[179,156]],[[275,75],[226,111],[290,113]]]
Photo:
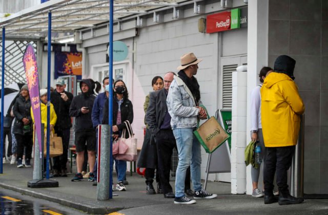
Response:
[[[34,48],[31,44],[28,44],[25,49],[25,53],[23,56],[23,64],[25,69],[27,85],[29,88],[32,111],[35,120],[34,124],[36,130],[36,137],[38,140],[37,142],[39,143],[39,148],[42,148],[39,77],[38,77],[36,56],[35,56]],[[40,152],[42,152],[42,150],[40,150]]]

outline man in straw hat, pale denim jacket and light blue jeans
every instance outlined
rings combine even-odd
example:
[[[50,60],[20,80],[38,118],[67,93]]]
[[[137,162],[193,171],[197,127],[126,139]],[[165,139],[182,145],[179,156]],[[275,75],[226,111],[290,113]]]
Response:
[[[185,195],[186,170],[190,165],[191,180],[195,190],[194,199],[213,199],[216,194],[208,193],[201,188],[200,183],[200,143],[193,135],[199,119],[206,119],[206,111],[200,107],[199,84],[194,75],[197,74],[198,63],[194,53],[180,57],[181,66],[177,69],[178,76],[170,85],[167,97],[168,111],[171,115],[171,127],[178,148],[179,163],[175,175],[174,204],[194,204]]]

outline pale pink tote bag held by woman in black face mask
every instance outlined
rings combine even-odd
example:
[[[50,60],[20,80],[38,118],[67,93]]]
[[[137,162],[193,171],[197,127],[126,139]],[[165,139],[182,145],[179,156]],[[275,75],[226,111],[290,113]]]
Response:
[[[120,152],[115,155],[116,160],[121,160],[121,161],[136,161],[138,157],[137,153],[137,139],[134,138],[132,127],[130,122],[127,120],[124,122],[126,125],[126,128],[122,132],[122,136],[119,138],[119,141],[124,141],[126,145],[128,145],[128,150],[124,154],[120,154]],[[125,137],[125,132],[128,131],[129,133],[129,138],[126,139]]]

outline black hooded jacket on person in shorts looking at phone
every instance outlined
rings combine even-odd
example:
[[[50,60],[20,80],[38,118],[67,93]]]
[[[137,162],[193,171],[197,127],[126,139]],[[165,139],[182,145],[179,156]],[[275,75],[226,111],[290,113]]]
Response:
[[[73,98],[71,106],[70,106],[70,116],[75,117],[75,132],[87,132],[94,131],[91,113],[93,102],[95,100],[95,95],[93,94],[92,84],[89,79],[82,79],[80,81],[81,84],[86,83],[89,87],[89,91],[87,93],[81,93]],[[83,114],[81,112],[82,107],[89,107],[89,112],[87,114]]]

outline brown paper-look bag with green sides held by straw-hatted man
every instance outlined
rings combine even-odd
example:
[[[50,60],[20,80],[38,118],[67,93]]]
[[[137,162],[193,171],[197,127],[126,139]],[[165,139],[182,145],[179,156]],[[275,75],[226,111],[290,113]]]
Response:
[[[205,109],[206,110],[206,109]],[[207,153],[213,153],[230,135],[222,128],[214,116],[209,117],[206,111],[208,120],[200,125],[194,135],[204,147]]]

